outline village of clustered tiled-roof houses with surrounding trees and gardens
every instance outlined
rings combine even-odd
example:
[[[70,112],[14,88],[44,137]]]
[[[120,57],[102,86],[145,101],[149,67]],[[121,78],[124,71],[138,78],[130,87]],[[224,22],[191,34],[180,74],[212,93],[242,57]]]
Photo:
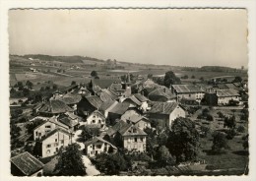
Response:
[[[190,79],[176,76],[175,70],[161,77],[150,71],[141,75],[117,64],[107,60],[104,68],[123,70],[119,75],[102,78],[93,65],[87,79],[72,77],[63,87],[53,81],[52,89],[32,95],[33,80],[10,87],[11,97],[24,93],[10,99],[13,175],[222,175],[248,170],[248,80],[239,72],[228,80],[206,80],[195,79],[194,71]],[[28,71],[38,74],[33,66]],[[73,68],[83,71],[83,65],[68,69]]]

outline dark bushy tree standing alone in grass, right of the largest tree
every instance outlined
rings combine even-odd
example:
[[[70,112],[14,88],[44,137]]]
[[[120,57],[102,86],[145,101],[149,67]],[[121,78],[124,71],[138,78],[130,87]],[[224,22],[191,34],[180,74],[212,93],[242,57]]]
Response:
[[[223,153],[226,149],[228,149],[227,140],[225,138],[224,133],[222,132],[215,132],[213,134],[213,146],[212,151],[215,153]]]

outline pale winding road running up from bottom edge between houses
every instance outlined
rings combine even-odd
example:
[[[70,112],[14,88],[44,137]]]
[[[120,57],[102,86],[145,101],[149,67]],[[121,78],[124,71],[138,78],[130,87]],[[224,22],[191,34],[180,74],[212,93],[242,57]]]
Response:
[[[85,149],[85,145],[82,142],[79,142],[80,140],[80,135],[82,133],[82,130],[77,130],[74,137],[72,138],[72,143],[77,143],[78,145],[80,145],[80,150],[83,151]],[[91,160],[88,158],[87,155],[84,154],[83,152],[83,161],[85,166],[87,167],[86,171],[87,171],[87,175],[88,176],[94,176],[94,175],[99,175],[100,172],[96,169],[96,167],[92,164]]]

